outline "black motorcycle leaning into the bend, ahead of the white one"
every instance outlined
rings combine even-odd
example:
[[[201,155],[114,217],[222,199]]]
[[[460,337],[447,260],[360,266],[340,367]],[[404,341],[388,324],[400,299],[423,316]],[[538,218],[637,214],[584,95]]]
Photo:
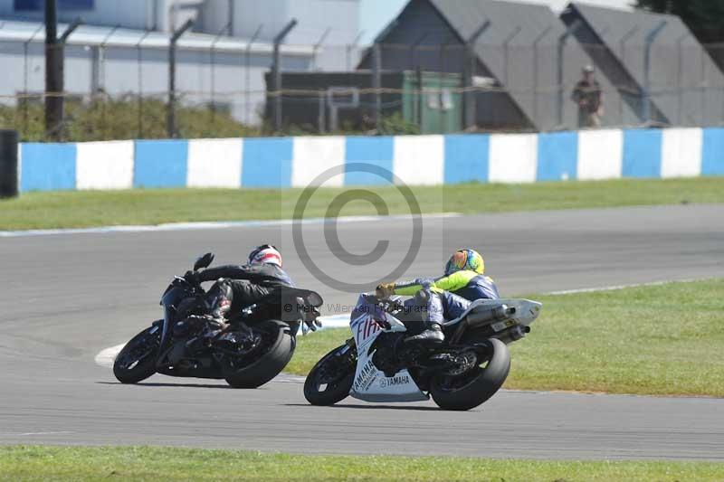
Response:
[[[214,254],[196,260],[208,268]],[[189,277],[186,277],[189,278]],[[224,379],[234,388],[269,382],[290,362],[300,326],[319,326],[322,298],[314,291],[281,288],[267,302],[243,307],[226,326],[208,315],[205,290],[175,277],[161,298],[164,318],[134,336],[119,352],[113,374],[138,383],[154,373]]]

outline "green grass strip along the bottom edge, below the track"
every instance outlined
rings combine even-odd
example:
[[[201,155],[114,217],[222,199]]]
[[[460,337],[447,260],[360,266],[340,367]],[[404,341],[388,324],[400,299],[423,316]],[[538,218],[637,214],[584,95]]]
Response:
[[[0,480],[715,481],[724,464],[260,454],[235,450],[0,448]]]

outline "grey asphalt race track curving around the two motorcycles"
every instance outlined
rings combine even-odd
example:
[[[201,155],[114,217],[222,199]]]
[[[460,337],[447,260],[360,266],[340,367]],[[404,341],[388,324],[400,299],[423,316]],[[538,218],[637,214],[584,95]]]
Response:
[[[451,250],[472,245],[505,295],[721,277],[723,213],[722,205],[681,205],[426,219],[406,274],[437,273]],[[378,263],[349,267],[329,253],[320,224],[305,227],[322,269],[374,286],[404,258],[410,223],[354,222],[338,232],[355,253],[390,240]],[[298,284],[319,290],[326,314],[354,303],[311,277],[288,225],[0,239],[0,443],[724,461],[720,399],[501,391],[462,413],[352,399],[319,408],[307,405],[295,377],[253,391],[161,375],[126,386],[94,364],[101,349],[159,317],[169,277],[195,255],[214,250],[233,262],[262,241],[280,246]],[[545,322],[544,310],[537,323]]]

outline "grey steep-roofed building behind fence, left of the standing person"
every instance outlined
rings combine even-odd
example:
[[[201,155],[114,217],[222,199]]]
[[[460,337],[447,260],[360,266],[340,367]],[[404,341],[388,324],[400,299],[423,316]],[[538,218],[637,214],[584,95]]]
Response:
[[[467,43],[476,33],[478,39],[470,45],[475,56],[472,82],[497,88],[475,96],[479,128],[577,127],[577,107],[568,98],[581,68],[593,60],[575,39],[565,39],[565,24],[545,5],[411,0],[377,38],[382,69],[466,71]],[[368,54],[360,67],[371,68],[371,61]],[[607,101],[617,103],[614,86],[605,77],[598,80]],[[605,125],[622,125],[624,118],[633,118],[628,107],[623,113],[607,113]]]

